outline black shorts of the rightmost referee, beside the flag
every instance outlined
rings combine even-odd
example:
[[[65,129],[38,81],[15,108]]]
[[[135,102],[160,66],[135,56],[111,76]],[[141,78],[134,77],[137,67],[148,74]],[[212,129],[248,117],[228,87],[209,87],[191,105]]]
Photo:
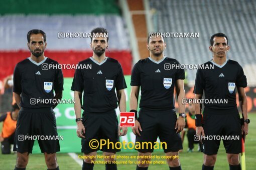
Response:
[[[209,114],[204,112],[203,123],[204,133],[207,138],[204,138],[204,153],[207,155],[217,154],[222,138],[226,153],[238,154],[241,152],[241,121],[239,113],[233,114]],[[230,139],[228,138],[230,136]]]

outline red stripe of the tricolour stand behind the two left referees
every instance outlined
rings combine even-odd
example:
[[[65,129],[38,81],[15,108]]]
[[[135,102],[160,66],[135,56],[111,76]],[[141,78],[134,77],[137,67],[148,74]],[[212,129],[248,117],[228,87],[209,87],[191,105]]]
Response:
[[[30,56],[28,50],[18,50],[18,51],[0,51],[0,80],[3,80],[6,76],[10,75],[14,71],[15,65]],[[45,56],[48,56],[61,64],[77,64],[78,61],[81,61],[85,58],[92,56],[92,51],[84,50],[46,50]],[[128,50],[111,50],[110,52],[106,51],[106,56],[117,59],[123,69],[125,75],[131,74],[132,69],[132,54]],[[64,77],[73,77],[74,69],[63,69]]]

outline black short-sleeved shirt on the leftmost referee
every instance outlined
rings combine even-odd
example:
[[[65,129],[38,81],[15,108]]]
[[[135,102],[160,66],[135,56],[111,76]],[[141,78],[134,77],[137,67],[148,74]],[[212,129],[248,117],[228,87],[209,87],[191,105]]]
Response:
[[[53,89],[63,90],[63,74],[61,69],[42,69],[42,64],[58,65],[58,62],[45,57],[37,63],[30,57],[17,63],[14,69],[13,91],[21,93],[21,106],[27,108],[51,107],[53,102],[36,104],[31,99],[53,99]],[[48,100],[49,101],[49,100]],[[48,102],[47,101],[47,102]]]

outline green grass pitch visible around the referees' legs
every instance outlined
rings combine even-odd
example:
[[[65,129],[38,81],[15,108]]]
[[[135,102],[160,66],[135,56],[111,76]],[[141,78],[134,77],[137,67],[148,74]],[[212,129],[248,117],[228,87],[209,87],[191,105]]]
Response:
[[[252,170],[256,167],[256,159],[255,159],[255,150],[256,150],[256,113],[249,113],[249,118],[251,120],[249,124],[249,134],[246,136],[245,140],[245,159],[246,159],[246,169]],[[0,131],[2,129],[3,123],[0,123]],[[80,144],[80,143],[74,143],[74,144]],[[201,169],[202,162],[203,162],[203,154],[201,152],[192,152],[188,153],[188,142],[187,138],[185,138],[183,143],[183,152],[180,153],[179,158],[181,162],[182,169]],[[195,145],[195,149],[197,148],[197,145]],[[81,154],[81,153],[77,153]],[[102,154],[102,152],[99,152],[99,154]],[[119,152],[117,155],[137,155],[137,152]],[[164,153],[161,152],[153,152],[153,155],[164,155]],[[57,160],[60,169],[81,169],[81,166],[67,153],[57,153]],[[97,159],[97,160],[103,160],[103,159]],[[125,160],[125,159],[121,159]],[[135,159],[131,159],[132,161],[135,161]],[[156,160],[156,159],[155,159]],[[160,159],[164,160],[164,159]],[[154,161],[154,160],[153,160]],[[9,154],[9,155],[3,155],[0,154],[0,169],[14,169],[16,164],[16,154]],[[136,164],[118,164],[117,165],[119,170],[124,169],[136,169]],[[149,169],[169,169],[167,164],[151,164],[149,166]],[[27,169],[47,169],[44,155],[43,154],[30,154],[29,156],[29,163],[27,166]],[[94,169],[101,170],[105,169],[104,164],[95,164]],[[217,155],[217,161],[214,166],[215,170],[222,170],[222,169],[229,169],[225,149],[223,147],[223,143],[221,142],[220,148]]]

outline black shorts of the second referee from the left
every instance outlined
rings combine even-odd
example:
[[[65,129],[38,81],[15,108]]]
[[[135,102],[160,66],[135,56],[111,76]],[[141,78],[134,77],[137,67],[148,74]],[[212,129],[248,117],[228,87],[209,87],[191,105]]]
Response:
[[[90,152],[97,151],[100,149],[100,147],[96,147],[96,143],[93,144],[93,142],[91,143],[93,147],[90,147],[89,144],[92,139],[94,139],[94,141],[96,139],[99,143],[100,139],[105,139],[106,141],[108,140],[109,142],[113,142],[114,145],[116,142],[119,142],[118,119],[115,110],[111,110],[104,113],[91,113],[84,111],[82,122],[85,127],[85,138],[81,139],[81,151],[83,153],[88,154]],[[116,147],[120,148],[120,144],[117,143]],[[112,147],[112,144],[109,144],[108,148],[107,144],[105,144],[102,145],[102,148],[100,150],[112,153],[121,150],[116,149],[116,147]]]

